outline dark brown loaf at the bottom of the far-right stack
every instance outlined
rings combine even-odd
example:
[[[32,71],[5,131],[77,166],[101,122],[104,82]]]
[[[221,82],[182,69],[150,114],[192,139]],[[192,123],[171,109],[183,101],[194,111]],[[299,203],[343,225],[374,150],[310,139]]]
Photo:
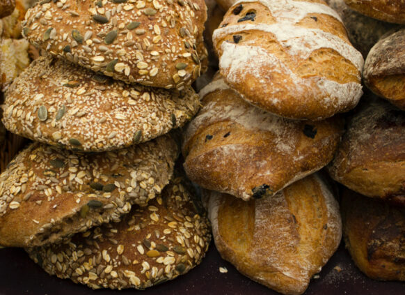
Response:
[[[346,189],[342,222],[346,248],[360,271],[374,280],[405,280],[405,208]]]

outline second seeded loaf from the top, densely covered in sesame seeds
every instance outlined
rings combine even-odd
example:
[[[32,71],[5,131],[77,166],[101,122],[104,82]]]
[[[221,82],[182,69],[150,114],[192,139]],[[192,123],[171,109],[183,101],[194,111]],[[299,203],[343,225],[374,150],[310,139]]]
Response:
[[[108,151],[183,126],[199,98],[117,82],[69,61],[41,57],[6,93],[3,123],[13,133],[74,151]]]

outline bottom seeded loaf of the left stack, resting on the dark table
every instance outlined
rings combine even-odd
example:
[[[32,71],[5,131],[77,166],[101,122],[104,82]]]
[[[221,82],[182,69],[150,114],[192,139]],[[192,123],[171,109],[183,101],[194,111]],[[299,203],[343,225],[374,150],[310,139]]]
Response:
[[[26,249],[47,273],[93,289],[145,289],[199,264],[211,240],[200,202],[175,179],[122,222],[77,234],[63,245]]]

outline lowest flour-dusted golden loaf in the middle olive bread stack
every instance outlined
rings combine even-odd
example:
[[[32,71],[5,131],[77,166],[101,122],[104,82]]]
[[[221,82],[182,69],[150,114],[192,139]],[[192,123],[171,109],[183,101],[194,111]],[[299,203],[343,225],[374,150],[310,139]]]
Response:
[[[205,194],[221,257],[277,292],[305,292],[340,243],[339,206],[317,174],[267,199],[244,202],[219,192]]]

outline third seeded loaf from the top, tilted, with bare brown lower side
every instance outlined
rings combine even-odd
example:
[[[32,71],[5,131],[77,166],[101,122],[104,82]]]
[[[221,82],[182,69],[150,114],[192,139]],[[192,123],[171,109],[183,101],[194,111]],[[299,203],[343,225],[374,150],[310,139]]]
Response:
[[[106,153],[81,154],[34,143],[0,176],[0,245],[55,243],[144,206],[173,175],[168,135]]]

